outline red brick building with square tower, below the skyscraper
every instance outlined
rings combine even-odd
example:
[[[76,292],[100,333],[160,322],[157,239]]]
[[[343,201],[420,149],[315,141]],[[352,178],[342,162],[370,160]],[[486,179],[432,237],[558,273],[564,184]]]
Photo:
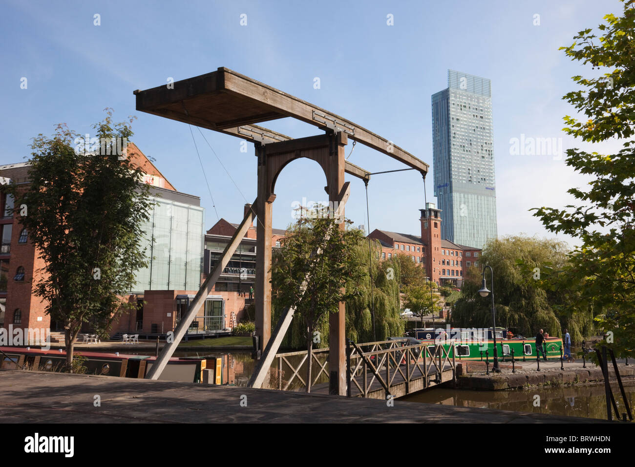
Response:
[[[368,236],[380,242],[382,259],[408,255],[435,283],[460,287],[467,267],[478,267],[481,250],[441,238],[441,210],[434,203],[420,212],[420,235],[375,229]]]

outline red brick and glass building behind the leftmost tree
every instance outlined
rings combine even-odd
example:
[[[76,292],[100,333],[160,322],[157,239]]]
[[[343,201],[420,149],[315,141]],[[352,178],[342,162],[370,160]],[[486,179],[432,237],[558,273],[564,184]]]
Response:
[[[130,294],[122,297],[136,303],[137,309],[124,313],[114,323],[112,334],[167,332],[178,320],[177,297],[196,294],[201,284],[203,208],[196,196],[178,192],[132,142],[128,143],[126,156],[142,168],[142,181],[150,185],[150,196],[157,203],[144,226],[146,246],[150,246],[150,238],[155,242],[148,250],[149,267],[136,271]],[[29,166],[29,162],[0,166],[0,182],[27,189]],[[51,322],[44,313],[46,303],[33,293],[44,262],[20,224],[19,206],[12,213],[13,198],[1,189],[0,203],[0,326],[62,330],[62,323]],[[86,327],[90,330],[90,324]]]

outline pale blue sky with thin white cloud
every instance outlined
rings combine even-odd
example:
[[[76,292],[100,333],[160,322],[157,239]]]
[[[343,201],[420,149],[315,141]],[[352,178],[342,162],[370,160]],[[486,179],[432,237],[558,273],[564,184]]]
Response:
[[[606,13],[621,11],[613,0],[5,1],[0,164],[28,158],[30,139],[50,135],[56,123],[91,133],[103,109],[112,107],[116,121],[137,116],[133,141],[168,180],[201,197],[207,229],[216,212],[239,222],[244,203],[255,198],[253,146],[244,153],[242,140],[202,130],[236,187],[192,127],[212,203],[188,126],[135,111],[133,90],[228,67],[340,114],[432,166],[431,95],[447,87],[447,70],[455,69],[492,81],[499,236],[552,237],[528,209],[565,206],[572,201],[566,190],[584,187],[586,180],[564,157],[511,154],[510,139],[562,138],[563,151],[589,148],[561,131],[562,117],[575,114],[561,98],[575,89],[571,76],[594,72],[558,47],[570,45],[577,31],[596,27]],[[101,25],[93,24],[95,14]],[[540,25],[534,25],[534,15],[540,15]],[[23,77],[27,89],[20,88]],[[292,137],[319,133],[293,119],[264,126]],[[617,147],[607,142],[594,150]],[[371,172],[405,168],[359,144],[349,161]],[[288,165],[276,184],[274,227],[293,220],[293,201],[326,200],[325,184],[317,163],[300,159]],[[351,189],[347,217],[368,226],[364,184],[351,177]],[[436,201],[432,172],[427,198]],[[371,230],[420,233],[424,189],[417,172],[372,177],[369,200]]]

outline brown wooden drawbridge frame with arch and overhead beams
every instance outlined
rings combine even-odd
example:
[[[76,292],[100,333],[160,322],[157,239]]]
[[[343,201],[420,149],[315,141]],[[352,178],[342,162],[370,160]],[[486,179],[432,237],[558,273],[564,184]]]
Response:
[[[271,229],[272,203],[275,200],[274,186],[277,175],[292,160],[309,158],[317,161],[326,175],[325,187],[329,201],[338,201],[344,187],[344,173],[368,180],[370,173],[344,159],[344,147],[350,138],[394,158],[422,175],[427,174],[429,165],[420,161],[392,141],[372,133],[362,126],[328,112],[300,98],[255,81],[230,69],[220,67],[215,72],[184,79],[170,85],[158,86],[145,91],[134,91],[137,98],[137,110],[157,116],[201,126],[209,130],[226,133],[255,144],[258,157],[258,197],[255,212],[248,213],[243,224],[236,231],[243,236],[246,221],[257,215],[257,265],[256,265],[256,328],[260,337],[260,349],[267,348],[271,337]],[[317,126],[326,134],[291,139],[281,133],[273,132],[255,124],[273,119],[293,117],[305,123]],[[344,214],[343,206],[340,214]],[[344,224],[340,224],[344,228]],[[244,232],[243,232],[244,231]],[[231,257],[239,243],[232,238],[231,245],[224,257]],[[206,292],[211,290],[215,278],[226,261],[218,262],[201,286],[187,316],[196,316],[203,305]],[[200,297],[199,297],[200,295]],[[344,304],[340,304],[341,313],[331,315],[329,372],[331,392],[344,395],[345,384],[345,329]],[[150,376],[156,379],[164,365],[176,349],[180,337],[187,327],[187,319],[182,320],[175,331],[173,344],[166,344],[157,359]],[[337,342],[337,345],[335,345]],[[270,346],[271,347],[271,346]],[[276,353],[274,349],[273,353]]]

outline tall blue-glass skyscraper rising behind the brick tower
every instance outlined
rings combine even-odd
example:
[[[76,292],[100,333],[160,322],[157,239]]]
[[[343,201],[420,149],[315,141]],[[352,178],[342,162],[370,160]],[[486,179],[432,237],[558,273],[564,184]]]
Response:
[[[483,248],[497,237],[489,79],[448,70],[432,95],[432,151],[441,238]]]

